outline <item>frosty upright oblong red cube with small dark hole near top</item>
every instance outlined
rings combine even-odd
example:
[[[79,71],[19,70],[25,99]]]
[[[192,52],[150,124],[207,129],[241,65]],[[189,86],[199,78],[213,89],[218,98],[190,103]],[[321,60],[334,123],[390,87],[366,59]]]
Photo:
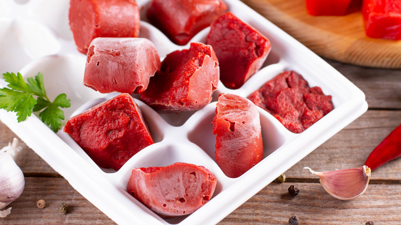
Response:
[[[213,118],[217,165],[236,178],[263,158],[262,129],[257,107],[248,99],[222,93]]]

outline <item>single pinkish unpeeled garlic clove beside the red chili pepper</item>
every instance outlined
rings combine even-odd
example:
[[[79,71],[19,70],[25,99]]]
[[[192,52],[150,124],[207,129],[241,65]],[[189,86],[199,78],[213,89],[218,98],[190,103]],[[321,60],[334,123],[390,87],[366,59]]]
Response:
[[[309,167],[304,167],[305,169],[320,177],[320,183],[327,193],[341,200],[356,198],[366,191],[371,174],[366,165],[327,172],[315,172]]]

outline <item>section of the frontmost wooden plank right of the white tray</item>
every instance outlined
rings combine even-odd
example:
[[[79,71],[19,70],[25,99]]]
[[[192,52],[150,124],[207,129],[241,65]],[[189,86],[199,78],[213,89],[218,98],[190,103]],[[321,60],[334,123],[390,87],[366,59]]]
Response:
[[[291,184],[300,189],[297,196],[288,194]],[[399,224],[399,193],[401,185],[373,184],[363,195],[342,201],[327,194],[320,183],[269,184],[218,224],[288,224],[295,215],[301,224],[365,224],[369,220]]]

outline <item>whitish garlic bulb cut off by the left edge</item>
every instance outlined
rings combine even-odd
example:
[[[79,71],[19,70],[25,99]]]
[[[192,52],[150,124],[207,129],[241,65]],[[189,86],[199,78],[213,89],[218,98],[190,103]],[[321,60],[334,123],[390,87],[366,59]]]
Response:
[[[24,174],[15,163],[14,158],[21,150],[18,140],[14,138],[12,144],[0,150],[0,210],[20,197],[25,186]],[[9,210],[5,210],[9,212]],[[2,217],[5,211],[1,211]]]

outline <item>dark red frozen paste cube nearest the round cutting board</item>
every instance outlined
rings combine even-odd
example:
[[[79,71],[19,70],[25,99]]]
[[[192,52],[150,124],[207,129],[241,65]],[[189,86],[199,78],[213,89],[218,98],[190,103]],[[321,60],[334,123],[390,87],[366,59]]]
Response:
[[[206,44],[216,53],[220,80],[231,89],[240,88],[259,71],[270,52],[270,41],[231,12],[210,25]]]

